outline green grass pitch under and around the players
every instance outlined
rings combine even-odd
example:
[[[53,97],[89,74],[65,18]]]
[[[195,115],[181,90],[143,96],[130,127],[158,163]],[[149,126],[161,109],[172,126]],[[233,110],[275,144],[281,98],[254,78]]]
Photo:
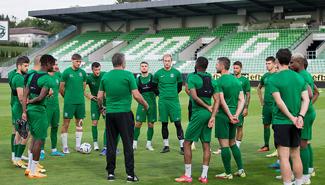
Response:
[[[73,151],[75,146],[75,124],[74,119],[70,123],[68,130],[68,146],[72,152],[65,157],[51,156],[50,137],[47,138],[45,144],[45,159],[40,159],[40,164],[45,167],[48,177],[41,179],[28,179],[25,177],[24,171],[12,165],[11,162],[11,110],[10,110],[10,88],[8,84],[0,84],[0,148],[2,155],[0,156],[0,184],[126,184],[127,175],[125,174],[123,144],[120,141],[118,149],[122,154],[116,155],[116,179],[114,182],[107,182],[106,157],[100,156],[100,151],[92,151],[88,155],[76,153]],[[89,89],[87,88],[87,93]],[[60,97],[61,114],[63,110],[63,99]],[[187,105],[188,97],[183,89],[180,93],[180,104],[182,107],[182,127],[185,131],[187,128]],[[313,124],[313,152],[314,152],[314,168],[315,177],[311,177],[312,184],[324,183],[325,157],[322,152],[325,149],[325,126],[322,124],[325,119],[325,95],[321,93],[319,99],[314,104],[317,116]],[[90,119],[90,100],[85,99],[86,116],[83,124],[83,142],[93,145]],[[136,113],[136,101],[132,102],[132,111]],[[274,164],[276,157],[266,157],[272,153],[274,148],[273,132],[271,136],[271,150],[258,153],[257,150],[264,144],[263,126],[262,126],[262,106],[258,99],[256,88],[252,88],[251,102],[249,105],[249,115],[244,119],[244,136],[240,150],[242,152],[242,162],[247,175],[246,178],[233,177],[233,179],[217,179],[215,175],[224,172],[221,155],[211,153],[211,162],[208,172],[208,184],[282,184],[282,181],[275,179],[280,173],[275,172],[274,168],[269,168],[270,164]],[[62,117],[60,124],[62,123]],[[98,143],[100,148],[103,147],[103,132],[105,123],[101,119],[98,123]],[[60,134],[61,126],[58,133],[58,149],[62,150],[62,141]],[[140,179],[136,184],[182,184],[175,182],[174,178],[180,177],[185,173],[184,158],[180,155],[180,144],[176,137],[176,128],[174,124],[169,125],[169,153],[161,154],[160,150],[164,147],[161,136],[161,123],[156,122],[154,126],[154,138],[152,146],[154,151],[145,150],[147,143],[147,126],[143,124],[140,137],[138,139],[138,149],[134,151],[135,172]],[[50,129],[48,132],[50,136]],[[218,140],[214,138],[214,129],[211,140],[211,150],[219,148]],[[212,152],[211,151],[211,152]],[[27,147],[24,152],[27,155]],[[235,173],[237,166],[235,161],[231,159],[231,171]],[[196,150],[193,150],[192,160],[192,177],[191,184],[200,184],[198,177],[202,173],[202,146],[200,142],[196,142]]]

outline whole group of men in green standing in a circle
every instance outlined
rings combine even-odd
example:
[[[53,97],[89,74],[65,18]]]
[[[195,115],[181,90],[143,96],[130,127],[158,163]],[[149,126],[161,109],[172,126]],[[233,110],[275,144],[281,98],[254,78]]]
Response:
[[[246,177],[240,153],[242,126],[247,116],[251,88],[249,79],[241,75],[242,63],[233,63],[233,73],[229,74],[231,61],[220,57],[216,62],[216,72],[221,74],[214,80],[206,72],[209,64],[205,57],[196,60],[195,72],[188,75],[185,91],[189,95],[189,124],[184,134],[180,123],[181,110],[178,93],[182,90],[182,75],[172,68],[172,56],[163,56],[164,67],[149,74],[149,64],[140,63],[141,75],[134,79],[131,72],[125,71],[125,55],[116,53],[112,57],[114,69],[101,71],[98,62],[92,64],[92,74],[80,68],[81,55],[72,55],[72,67],[61,74],[57,61],[51,55],[39,55],[34,59],[34,68],[28,71],[28,57],[17,59],[17,69],[10,72],[9,84],[12,89],[12,162],[14,166],[25,169],[30,178],[46,177],[43,166],[39,164],[44,157],[43,147],[47,137],[48,126],[51,127],[51,155],[69,154],[67,147],[67,128],[70,119],[76,119],[76,148],[80,151],[83,134],[83,118],[85,117],[85,99],[91,100],[92,136],[94,150],[98,146],[98,120],[105,119],[104,148],[101,155],[107,153],[107,179],[115,179],[116,148],[119,138],[123,139],[127,182],[136,182],[134,173],[134,150],[143,122],[148,123],[147,150],[154,150],[151,139],[154,135],[154,122],[157,121],[156,96],[158,99],[158,121],[162,122],[162,139],[165,147],[160,153],[169,152],[168,121],[174,122],[180,142],[180,153],[184,155],[185,174],[176,178],[177,182],[192,182],[191,152],[194,142],[202,142],[203,166],[202,175],[198,180],[207,183],[207,172],[211,158],[211,130],[215,128],[220,149],[213,153],[221,153],[224,173],[218,178],[232,179],[231,152],[238,166],[234,175]],[[311,75],[306,72],[308,63],[300,54],[291,55],[288,49],[280,49],[274,57],[266,58],[266,72],[258,85],[264,124],[264,146],[258,151],[269,150],[272,124],[274,130],[275,153],[268,157],[278,156],[279,159],[270,167],[280,168],[284,184],[310,184],[313,170],[313,150],[311,148],[311,126],[315,120],[313,103],[319,92]],[[289,70],[289,68],[291,70]],[[294,71],[294,72],[293,72]],[[278,73],[277,75],[275,75]],[[299,74],[299,75],[297,75]],[[25,76],[25,77],[24,77]],[[86,84],[91,94],[85,93]],[[265,87],[264,99],[261,88]],[[63,126],[61,138],[63,153],[56,150],[57,132],[59,127],[59,98],[64,98]],[[138,101],[136,124],[131,111],[132,96]],[[211,99],[213,98],[213,104]],[[44,117],[43,115],[48,115]],[[30,134],[26,139],[18,134],[17,119],[28,122]],[[106,129],[107,128],[107,129]],[[237,131],[237,134],[236,134]],[[290,133],[290,134],[289,134]],[[22,161],[23,150],[28,146],[28,164]],[[278,153],[278,155],[277,155]],[[290,163],[289,163],[289,158]],[[291,170],[292,169],[292,170]]]

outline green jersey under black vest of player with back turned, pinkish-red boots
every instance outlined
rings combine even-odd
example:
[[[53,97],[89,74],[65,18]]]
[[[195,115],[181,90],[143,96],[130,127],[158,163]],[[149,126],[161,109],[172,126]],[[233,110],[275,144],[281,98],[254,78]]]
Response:
[[[200,74],[202,76],[211,76],[210,73],[205,73],[205,72],[198,72],[198,74]],[[202,78],[199,75],[191,75],[191,77],[189,77],[189,79],[187,81],[189,83],[189,90],[191,88],[198,90],[198,89],[202,88],[202,86],[203,86]],[[212,77],[211,77],[211,85],[213,88],[213,94],[219,93],[217,81],[214,80]],[[211,106],[211,97],[199,97],[199,98],[203,102],[205,102],[205,104],[207,104],[208,106]],[[196,101],[193,101],[193,99],[191,101],[193,102],[192,111],[205,109],[204,107],[202,107],[198,103],[196,103]]]

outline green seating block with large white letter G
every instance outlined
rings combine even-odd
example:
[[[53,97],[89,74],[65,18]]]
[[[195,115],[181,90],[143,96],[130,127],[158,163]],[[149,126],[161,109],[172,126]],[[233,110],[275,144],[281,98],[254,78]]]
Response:
[[[306,31],[306,29],[299,29],[238,32],[222,47],[217,44],[209,50],[205,57],[210,61],[217,61],[218,57],[242,61],[243,73],[265,72],[265,58],[274,55],[280,48],[291,48]],[[187,68],[181,68],[180,72],[189,73],[194,65],[194,61],[187,61]],[[207,71],[216,72],[215,66],[215,62],[211,62]]]

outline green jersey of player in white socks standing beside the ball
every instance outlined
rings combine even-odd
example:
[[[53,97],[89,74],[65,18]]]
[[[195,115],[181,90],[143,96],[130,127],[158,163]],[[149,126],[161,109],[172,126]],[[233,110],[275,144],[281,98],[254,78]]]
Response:
[[[66,68],[62,73],[61,81],[65,82],[64,104],[85,104],[83,94],[83,82],[87,81],[85,70]]]

